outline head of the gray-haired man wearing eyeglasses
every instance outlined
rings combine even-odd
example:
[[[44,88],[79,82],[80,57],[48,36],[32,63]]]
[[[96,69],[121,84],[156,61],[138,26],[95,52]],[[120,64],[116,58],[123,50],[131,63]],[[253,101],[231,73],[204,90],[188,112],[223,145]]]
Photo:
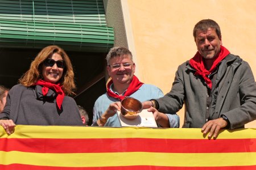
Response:
[[[115,46],[109,50],[106,56],[108,73],[114,84],[129,86],[135,73],[135,63],[130,50]]]

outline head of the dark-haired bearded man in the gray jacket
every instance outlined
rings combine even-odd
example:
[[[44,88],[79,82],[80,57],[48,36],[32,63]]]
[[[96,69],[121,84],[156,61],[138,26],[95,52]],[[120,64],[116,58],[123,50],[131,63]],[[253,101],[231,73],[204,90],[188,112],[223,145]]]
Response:
[[[193,29],[197,50],[204,59],[214,60],[220,53],[221,30],[212,19],[203,19]]]

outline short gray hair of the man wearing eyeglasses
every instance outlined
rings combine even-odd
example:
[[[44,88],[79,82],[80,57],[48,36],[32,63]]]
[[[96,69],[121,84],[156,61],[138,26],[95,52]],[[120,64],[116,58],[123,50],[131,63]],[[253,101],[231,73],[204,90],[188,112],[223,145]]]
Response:
[[[108,65],[111,58],[120,57],[120,56],[130,56],[131,61],[133,61],[133,54],[131,54],[129,49],[121,46],[114,46],[109,50],[109,53],[106,56],[106,61]]]

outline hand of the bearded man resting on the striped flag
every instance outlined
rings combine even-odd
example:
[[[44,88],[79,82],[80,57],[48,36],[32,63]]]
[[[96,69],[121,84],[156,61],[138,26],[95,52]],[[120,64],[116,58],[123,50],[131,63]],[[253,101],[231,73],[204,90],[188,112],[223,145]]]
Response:
[[[203,134],[207,134],[209,132],[208,138],[216,139],[218,136],[218,131],[220,131],[221,128],[225,128],[228,125],[228,122],[223,120],[222,118],[217,118],[215,120],[210,120],[206,124],[204,124],[201,131]]]

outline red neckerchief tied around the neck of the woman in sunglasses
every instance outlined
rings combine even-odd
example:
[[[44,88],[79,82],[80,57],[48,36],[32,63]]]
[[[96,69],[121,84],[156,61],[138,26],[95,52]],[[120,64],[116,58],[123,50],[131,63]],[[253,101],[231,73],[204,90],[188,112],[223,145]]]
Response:
[[[55,91],[57,94],[57,97],[56,97],[57,107],[59,109],[61,108],[61,104],[63,102],[65,95],[64,95],[64,92],[63,92],[60,84],[53,84],[50,82],[44,82],[44,80],[38,80],[38,82],[36,82],[35,85],[43,86],[43,88],[42,88],[43,96],[47,95],[49,88],[51,88],[51,90]]]

